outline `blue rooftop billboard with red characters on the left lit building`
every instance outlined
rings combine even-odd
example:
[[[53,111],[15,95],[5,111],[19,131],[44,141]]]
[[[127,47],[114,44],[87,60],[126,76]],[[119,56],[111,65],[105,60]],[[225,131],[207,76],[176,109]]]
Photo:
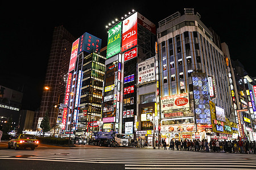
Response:
[[[80,54],[82,51],[92,53],[92,52],[100,52],[101,49],[101,39],[96,36],[90,35],[85,32],[82,36],[80,36],[79,42],[79,50]]]

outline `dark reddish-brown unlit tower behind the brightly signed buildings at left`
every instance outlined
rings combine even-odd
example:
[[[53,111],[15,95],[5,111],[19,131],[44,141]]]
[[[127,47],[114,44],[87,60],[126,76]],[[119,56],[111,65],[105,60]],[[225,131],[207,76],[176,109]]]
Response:
[[[66,80],[68,73],[68,64],[72,48],[72,42],[75,37],[71,35],[63,26],[55,27],[52,36],[51,51],[49,54],[48,66],[44,87],[48,90],[43,91],[40,104],[40,112],[34,119],[34,130],[38,127],[38,119],[42,119],[48,112],[50,126],[56,123],[57,109],[52,107],[58,101],[63,101],[65,95]]]

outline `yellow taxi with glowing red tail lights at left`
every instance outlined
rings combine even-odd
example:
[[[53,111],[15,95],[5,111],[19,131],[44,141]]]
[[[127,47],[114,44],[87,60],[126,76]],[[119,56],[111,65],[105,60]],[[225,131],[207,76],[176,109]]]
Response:
[[[39,141],[35,135],[31,134],[17,134],[13,139],[8,142],[8,148],[14,147],[15,150],[19,148],[30,147],[31,150],[35,150],[38,147]]]

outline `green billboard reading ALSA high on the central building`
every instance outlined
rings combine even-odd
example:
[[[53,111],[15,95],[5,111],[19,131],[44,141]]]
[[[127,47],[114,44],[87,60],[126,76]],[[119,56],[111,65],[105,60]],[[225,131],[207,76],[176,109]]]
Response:
[[[106,58],[110,58],[115,56],[120,52],[121,46],[121,24],[119,22],[113,28],[109,29],[108,34],[108,48],[107,48],[107,55]]]

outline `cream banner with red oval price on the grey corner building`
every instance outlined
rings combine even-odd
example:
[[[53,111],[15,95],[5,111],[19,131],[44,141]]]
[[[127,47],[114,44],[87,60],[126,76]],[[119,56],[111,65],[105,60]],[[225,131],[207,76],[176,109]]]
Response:
[[[181,109],[189,107],[188,93],[161,97],[161,110]]]

